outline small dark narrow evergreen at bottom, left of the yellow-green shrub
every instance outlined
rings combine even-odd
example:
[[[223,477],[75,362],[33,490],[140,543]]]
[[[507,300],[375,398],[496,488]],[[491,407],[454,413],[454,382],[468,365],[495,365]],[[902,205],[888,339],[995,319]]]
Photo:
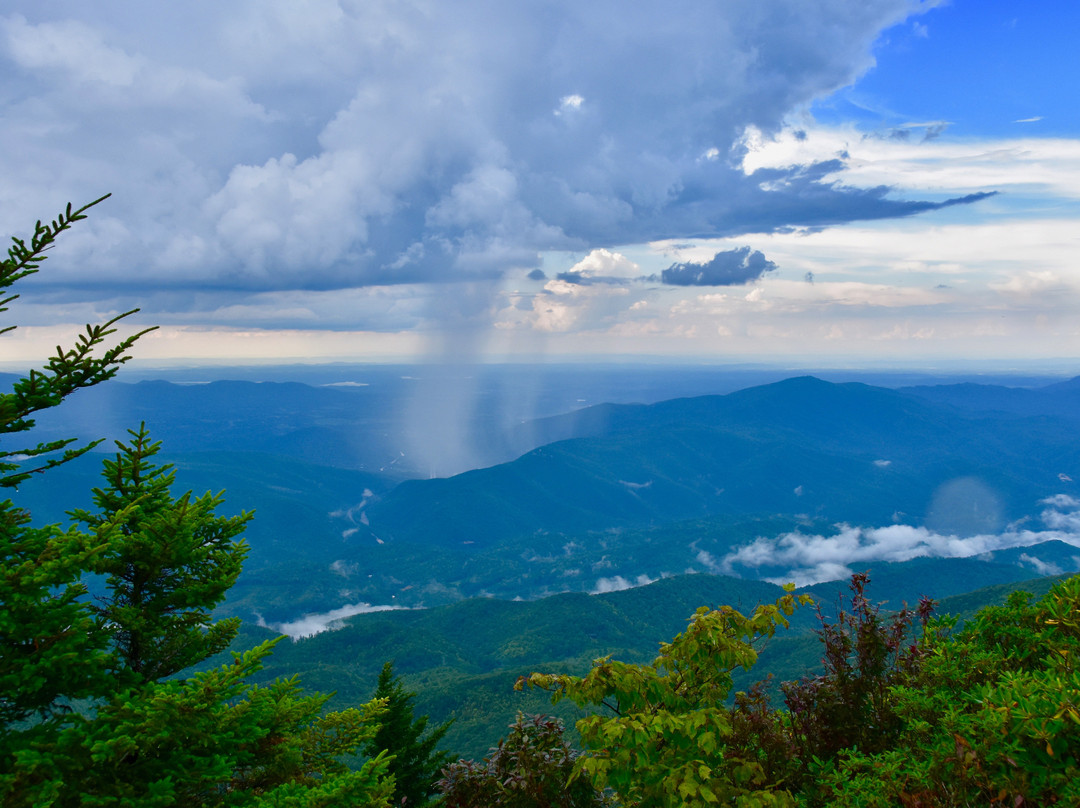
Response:
[[[375,699],[386,699],[387,711],[365,751],[370,756],[382,751],[392,755],[390,773],[394,776],[394,805],[407,808],[427,805],[435,791],[442,768],[450,762],[450,755],[436,751],[435,746],[443,740],[451,722],[435,727],[424,737],[428,716],[414,718],[416,693],[406,690],[401,677],[394,675],[393,662],[382,665]]]

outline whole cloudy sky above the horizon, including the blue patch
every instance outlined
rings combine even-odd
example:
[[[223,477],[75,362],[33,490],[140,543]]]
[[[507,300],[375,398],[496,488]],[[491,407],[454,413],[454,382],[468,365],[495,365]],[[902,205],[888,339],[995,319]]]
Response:
[[[1080,354],[1080,2],[8,0],[0,363]],[[1080,364],[1080,363],[1078,363]]]

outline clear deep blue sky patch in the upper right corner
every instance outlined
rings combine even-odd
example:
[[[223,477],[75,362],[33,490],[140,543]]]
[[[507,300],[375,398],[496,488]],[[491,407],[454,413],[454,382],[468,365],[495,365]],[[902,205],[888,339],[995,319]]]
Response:
[[[822,122],[948,121],[960,137],[1075,136],[1080,3],[959,0],[886,31],[877,66],[813,105]],[[1038,119],[1038,120],[1031,120]]]

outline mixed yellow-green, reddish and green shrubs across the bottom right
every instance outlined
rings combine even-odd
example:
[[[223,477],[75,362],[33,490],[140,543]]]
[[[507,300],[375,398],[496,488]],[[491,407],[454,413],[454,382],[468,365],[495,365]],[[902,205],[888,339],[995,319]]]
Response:
[[[926,601],[882,614],[867,583],[853,577],[835,618],[819,609],[825,671],[785,684],[786,710],[767,683],[726,699],[792,595],[750,618],[701,609],[649,665],[527,684],[602,708],[578,722],[575,770],[625,806],[1080,804],[1080,576],[961,631]]]

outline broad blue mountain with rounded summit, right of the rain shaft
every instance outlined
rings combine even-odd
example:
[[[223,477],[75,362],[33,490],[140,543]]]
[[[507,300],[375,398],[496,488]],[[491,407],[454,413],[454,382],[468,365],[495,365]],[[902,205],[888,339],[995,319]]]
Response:
[[[584,433],[447,480],[409,481],[368,511],[383,539],[494,543],[716,513],[806,513],[922,524],[939,486],[976,477],[994,497],[939,513],[994,531],[1080,480],[1070,422],[968,416],[901,392],[797,378],[725,396],[605,406],[549,421]],[[993,508],[990,507],[993,504]],[[434,529],[433,529],[434,528]]]

